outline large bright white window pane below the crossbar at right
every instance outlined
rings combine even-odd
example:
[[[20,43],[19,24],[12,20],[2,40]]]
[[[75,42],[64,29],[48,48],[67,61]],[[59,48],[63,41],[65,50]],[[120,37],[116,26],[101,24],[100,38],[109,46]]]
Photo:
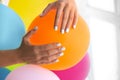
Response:
[[[115,25],[95,18],[89,20],[94,80],[117,80]]]

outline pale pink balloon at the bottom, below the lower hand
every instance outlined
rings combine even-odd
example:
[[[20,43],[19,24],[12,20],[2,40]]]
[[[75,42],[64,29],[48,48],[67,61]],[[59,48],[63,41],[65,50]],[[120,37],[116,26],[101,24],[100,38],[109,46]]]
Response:
[[[12,71],[5,80],[60,80],[53,72],[36,66],[25,65]]]

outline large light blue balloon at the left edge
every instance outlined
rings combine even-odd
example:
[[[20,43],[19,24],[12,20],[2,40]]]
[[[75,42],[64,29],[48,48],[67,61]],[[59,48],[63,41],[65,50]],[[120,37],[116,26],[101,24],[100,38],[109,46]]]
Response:
[[[18,48],[24,34],[21,18],[12,9],[0,4],[0,50]]]

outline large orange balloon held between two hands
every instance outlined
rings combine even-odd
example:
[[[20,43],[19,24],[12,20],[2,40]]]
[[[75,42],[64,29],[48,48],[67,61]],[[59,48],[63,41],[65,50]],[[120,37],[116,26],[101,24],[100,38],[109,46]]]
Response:
[[[76,65],[83,59],[89,45],[89,30],[85,21],[79,16],[76,29],[71,29],[69,33],[61,34],[54,30],[56,10],[52,9],[46,16],[37,16],[28,31],[38,26],[38,31],[31,37],[33,45],[48,44],[60,42],[66,50],[64,56],[59,58],[59,62],[42,65],[50,70],[64,70]],[[62,16],[61,16],[62,18]],[[59,30],[61,25],[59,23]]]

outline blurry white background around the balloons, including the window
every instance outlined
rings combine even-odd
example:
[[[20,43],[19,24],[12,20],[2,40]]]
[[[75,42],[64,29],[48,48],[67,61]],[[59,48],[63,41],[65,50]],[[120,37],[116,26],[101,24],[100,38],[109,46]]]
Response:
[[[8,1],[3,3],[7,5]],[[91,35],[91,69],[86,80],[120,80],[120,0],[76,2]]]

